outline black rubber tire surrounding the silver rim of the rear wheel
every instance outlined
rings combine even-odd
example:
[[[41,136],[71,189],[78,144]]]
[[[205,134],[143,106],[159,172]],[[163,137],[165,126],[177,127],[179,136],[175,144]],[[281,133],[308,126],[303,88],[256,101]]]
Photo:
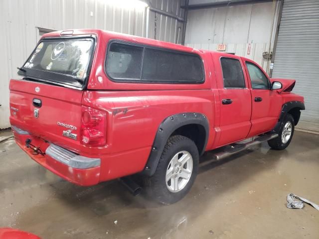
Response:
[[[188,182],[180,191],[171,192],[168,190],[168,186],[166,186],[166,171],[173,156],[180,151],[187,151],[190,153],[192,158],[192,172]],[[181,135],[169,137],[160,156],[160,161],[154,175],[146,179],[146,186],[150,196],[162,204],[172,204],[181,200],[189,192],[195,181],[198,173],[198,161],[198,149],[191,139]],[[172,170],[172,173],[173,171],[174,170]]]

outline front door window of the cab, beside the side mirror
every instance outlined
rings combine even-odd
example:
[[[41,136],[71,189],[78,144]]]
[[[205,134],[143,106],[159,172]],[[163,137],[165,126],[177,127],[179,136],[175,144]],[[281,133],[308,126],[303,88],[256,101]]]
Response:
[[[268,78],[265,76],[265,74],[260,70],[258,66],[256,66],[253,63],[246,62],[247,69],[249,72],[251,85],[253,89],[270,89]]]

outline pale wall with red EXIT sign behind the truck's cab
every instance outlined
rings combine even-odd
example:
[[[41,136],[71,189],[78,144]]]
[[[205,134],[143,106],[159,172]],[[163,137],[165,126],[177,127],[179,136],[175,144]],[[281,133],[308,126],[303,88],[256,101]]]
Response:
[[[253,59],[268,70],[262,54],[269,51],[271,32],[273,46],[278,9],[276,1],[190,10],[185,44],[214,51],[226,44],[225,52]]]

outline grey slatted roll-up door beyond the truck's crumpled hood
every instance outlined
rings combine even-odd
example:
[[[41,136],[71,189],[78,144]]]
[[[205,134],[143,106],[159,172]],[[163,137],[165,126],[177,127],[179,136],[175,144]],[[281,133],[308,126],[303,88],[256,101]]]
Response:
[[[299,128],[319,132],[319,0],[285,0],[273,78],[295,79],[305,97]]]

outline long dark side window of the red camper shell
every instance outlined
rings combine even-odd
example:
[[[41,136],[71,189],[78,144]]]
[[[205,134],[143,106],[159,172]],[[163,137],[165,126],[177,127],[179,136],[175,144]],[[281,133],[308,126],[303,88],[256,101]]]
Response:
[[[194,53],[122,41],[111,41],[105,70],[115,82],[201,84],[202,59]]]

